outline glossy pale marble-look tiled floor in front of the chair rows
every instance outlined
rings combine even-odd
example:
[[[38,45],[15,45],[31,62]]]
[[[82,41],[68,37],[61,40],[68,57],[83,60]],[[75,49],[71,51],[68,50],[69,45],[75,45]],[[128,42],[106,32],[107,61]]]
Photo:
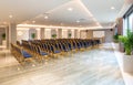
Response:
[[[0,65],[0,85],[124,85],[111,44],[69,53],[41,64],[27,63],[24,67],[10,54],[0,57],[2,61],[10,59],[7,62],[10,66]]]

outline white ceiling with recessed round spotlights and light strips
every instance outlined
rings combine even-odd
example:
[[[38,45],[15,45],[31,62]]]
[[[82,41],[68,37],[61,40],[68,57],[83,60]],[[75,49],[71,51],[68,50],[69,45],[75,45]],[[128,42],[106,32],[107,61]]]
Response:
[[[132,0],[127,2],[132,4]],[[124,3],[124,0],[0,0],[0,24],[112,26]],[[13,18],[10,19],[10,14]]]

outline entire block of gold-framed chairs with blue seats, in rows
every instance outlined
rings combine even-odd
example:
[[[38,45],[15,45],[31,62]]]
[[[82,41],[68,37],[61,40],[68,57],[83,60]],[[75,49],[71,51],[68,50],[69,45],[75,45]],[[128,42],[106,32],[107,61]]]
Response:
[[[29,57],[42,61],[48,56],[54,57],[62,53],[85,50],[99,44],[100,40],[88,39],[22,40],[22,43],[17,41],[17,45],[11,44],[11,52],[22,63]]]

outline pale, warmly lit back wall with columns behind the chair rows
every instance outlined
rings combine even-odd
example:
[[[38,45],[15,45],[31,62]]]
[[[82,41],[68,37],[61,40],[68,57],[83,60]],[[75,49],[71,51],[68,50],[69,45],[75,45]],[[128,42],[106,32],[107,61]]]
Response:
[[[40,29],[17,29],[17,40],[29,40],[30,33],[37,33],[37,39],[41,39],[41,33],[44,34],[43,39],[51,39],[51,34],[57,34],[57,39],[68,39],[68,34],[71,33],[71,38],[76,39],[93,39],[93,38],[105,38],[105,42],[112,42],[113,41],[113,31],[111,30],[102,30],[102,31],[93,31],[93,30],[66,30],[66,29],[44,29],[43,32],[41,32]]]

